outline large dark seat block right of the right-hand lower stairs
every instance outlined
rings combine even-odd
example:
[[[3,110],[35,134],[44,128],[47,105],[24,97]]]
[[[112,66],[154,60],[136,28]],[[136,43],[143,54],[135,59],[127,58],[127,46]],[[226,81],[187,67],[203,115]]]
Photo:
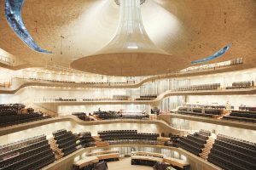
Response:
[[[256,169],[256,144],[218,134],[207,161],[227,170]]]

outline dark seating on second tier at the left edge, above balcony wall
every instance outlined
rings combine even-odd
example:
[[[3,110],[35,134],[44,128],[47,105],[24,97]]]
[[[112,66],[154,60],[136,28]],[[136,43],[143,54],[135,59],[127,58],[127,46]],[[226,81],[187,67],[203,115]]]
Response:
[[[0,105],[0,127],[8,127],[25,122],[33,122],[50,118],[43,113],[25,108],[22,104]]]

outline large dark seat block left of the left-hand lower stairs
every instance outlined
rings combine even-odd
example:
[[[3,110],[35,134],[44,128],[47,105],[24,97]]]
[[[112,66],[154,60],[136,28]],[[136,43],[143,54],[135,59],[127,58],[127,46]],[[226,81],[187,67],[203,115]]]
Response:
[[[0,146],[1,170],[40,169],[54,161],[45,135]]]

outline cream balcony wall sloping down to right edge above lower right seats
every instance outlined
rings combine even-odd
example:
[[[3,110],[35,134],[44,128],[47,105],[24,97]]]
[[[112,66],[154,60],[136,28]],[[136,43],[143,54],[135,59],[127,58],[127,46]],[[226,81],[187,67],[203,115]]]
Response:
[[[180,116],[179,114],[160,115],[159,118],[160,120],[167,122],[173,128],[180,130],[195,132],[199,131],[200,129],[205,129],[211,131],[212,133],[221,133],[234,138],[243,139],[254,143],[256,142],[256,126],[253,126],[253,123],[221,121],[218,119],[205,117]],[[250,125],[250,127],[247,127],[247,124]]]

